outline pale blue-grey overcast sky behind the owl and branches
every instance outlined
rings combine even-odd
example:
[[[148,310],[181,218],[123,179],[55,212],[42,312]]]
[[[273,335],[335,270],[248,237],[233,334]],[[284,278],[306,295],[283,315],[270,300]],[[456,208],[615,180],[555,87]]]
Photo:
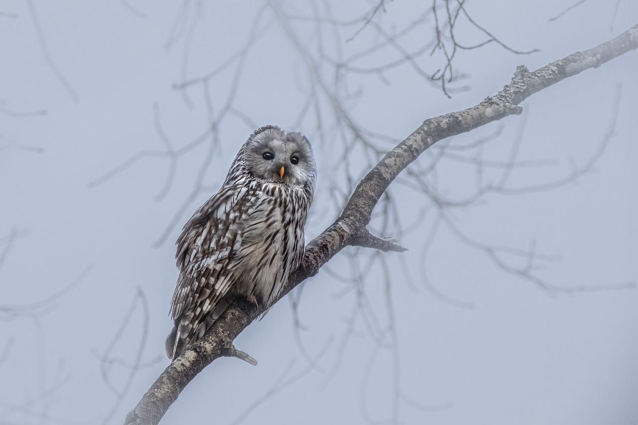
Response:
[[[587,0],[555,20],[577,2],[468,1],[507,47],[538,51],[457,50],[449,98],[424,78],[445,66],[430,56],[431,3],[387,2],[364,27],[375,3],[0,2],[0,424],[124,421],[168,365],[174,241],[257,126],[302,131],[315,147],[309,240],[424,119],[495,94],[518,65],[638,23],[632,0]],[[345,24],[317,33],[299,19],[329,13]],[[460,16],[459,43],[489,38]],[[424,54],[366,71],[401,59],[390,45],[336,77],[332,59],[406,27],[397,43]],[[291,294],[296,316],[289,296],[239,336],[258,366],[215,361],[162,423],[637,423],[637,70],[630,52],[424,154],[411,170],[449,153],[429,191],[402,175],[371,223],[389,219],[382,236],[409,251],[382,262],[346,248]],[[345,108],[340,122],[327,93]],[[344,116],[378,153],[353,141]],[[521,167],[503,168],[513,147]],[[586,172],[521,190],[574,169]],[[504,170],[501,193],[434,202],[466,200]],[[549,289],[504,270],[529,260],[510,248],[533,250]]]

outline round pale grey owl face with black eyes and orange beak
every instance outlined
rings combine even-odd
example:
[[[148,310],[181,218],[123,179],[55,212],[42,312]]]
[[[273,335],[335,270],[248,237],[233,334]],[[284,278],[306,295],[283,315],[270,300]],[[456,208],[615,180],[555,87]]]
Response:
[[[264,127],[246,142],[244,159],[249,172],[259,179],[298,186],[315,181],[313,149],[301,133]]]

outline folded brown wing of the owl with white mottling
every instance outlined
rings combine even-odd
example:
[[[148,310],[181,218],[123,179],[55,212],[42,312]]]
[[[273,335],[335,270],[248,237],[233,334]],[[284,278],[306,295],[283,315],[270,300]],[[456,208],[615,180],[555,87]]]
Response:
[[[242,244],[242,222],[255,200],[252,186],[234,184],[222,188],[184,225],[177,239],[177,267],[180,270],[171,302],[178,345],[186,347],[202,331],[205,316],[219,316],[219,305],[235,281],[234,258]],[[212,320],[217,317],[213,317]],[[177,351],[179,354],[179,350]]]

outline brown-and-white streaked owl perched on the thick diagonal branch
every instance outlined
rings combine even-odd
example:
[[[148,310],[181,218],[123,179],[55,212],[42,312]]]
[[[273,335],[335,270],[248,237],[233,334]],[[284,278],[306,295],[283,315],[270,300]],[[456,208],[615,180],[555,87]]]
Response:
[[[241,296],[269,308],[304,254],[316,166],[306,137],[277,126],[255,130],[226,181],[177,239],[179,278],[166,341],[175,359]]]

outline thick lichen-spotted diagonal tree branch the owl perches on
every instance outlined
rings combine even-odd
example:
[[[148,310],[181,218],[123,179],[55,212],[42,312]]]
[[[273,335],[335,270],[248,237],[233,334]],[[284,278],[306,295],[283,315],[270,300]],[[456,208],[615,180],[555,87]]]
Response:
[[[523,108],[518,105],[531,94],[581,71],[597,68],[636,48],[638,25],[597,47],[576,52],[536,71],[530,72],[526,67],[519,66],[512,82],[495,96],[465,110],[427,119],[370,170],[350,197],[341,216],[309,242],[302,264],[290,276],[279,299],[302,281],[315,276],[320,267],[345,246],[361,246],[362,241],[367,240],[369,243],[365,246],[382,248],[379,241],[383,239],[373,237],[366,229],[372,211],[397,175],[431,145],[512,114],[521,114]],[[237,300],[231,304],[204,338],[191,345],[165,369],[135,409],[126,416],[126,424],[157,424],[184,387],[207,365],[219,357],[237,357],[239,352],[233,345],[234,339],[261,313],[262,309],[246,301]]]

